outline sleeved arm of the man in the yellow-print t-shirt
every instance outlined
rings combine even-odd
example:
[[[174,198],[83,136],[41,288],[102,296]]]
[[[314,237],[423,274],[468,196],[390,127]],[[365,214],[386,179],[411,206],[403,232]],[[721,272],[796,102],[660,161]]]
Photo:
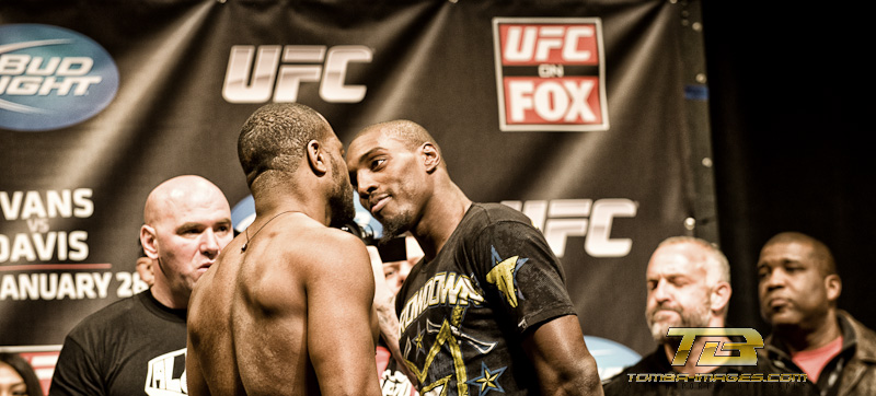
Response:
[[[482,284],[517,324],[542,394],[602,395],[562,266],[544,235],[522,221],[499,221],[480,233],[477,249]]]

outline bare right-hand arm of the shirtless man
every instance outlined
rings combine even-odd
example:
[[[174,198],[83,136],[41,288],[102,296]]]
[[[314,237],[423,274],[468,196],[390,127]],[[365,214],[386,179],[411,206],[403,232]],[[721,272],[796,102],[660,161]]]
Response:
[[[361,241],[321,232],[307,276],[308,350],[323,395],[380,395],[371,334],[373,275]]]

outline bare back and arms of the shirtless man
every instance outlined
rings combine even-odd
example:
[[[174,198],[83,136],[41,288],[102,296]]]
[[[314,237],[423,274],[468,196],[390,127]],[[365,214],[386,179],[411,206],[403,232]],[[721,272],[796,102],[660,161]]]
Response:
[[[373,365],[377,334],[365,245],[302,213],[276,214],[250,226],[245,252],[247,235],[229,244],[192,294],[188,393],[378,389],[376,368],[361,366]]]

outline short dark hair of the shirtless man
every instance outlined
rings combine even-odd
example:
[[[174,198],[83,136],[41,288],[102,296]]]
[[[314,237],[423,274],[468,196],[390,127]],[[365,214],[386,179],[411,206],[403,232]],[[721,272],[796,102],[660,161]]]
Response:
[[[238,159],[246,184],[267,171],[293,172],[311,140],[322,141],[328,123],[299,103],[272,103],[253,113],[238,137]]]

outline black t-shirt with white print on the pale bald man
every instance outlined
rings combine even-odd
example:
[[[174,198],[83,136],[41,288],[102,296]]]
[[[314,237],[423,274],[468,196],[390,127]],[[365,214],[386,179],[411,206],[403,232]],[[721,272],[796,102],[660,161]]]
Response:
[[[185,310],[147,290],[84,318],[64,341],[49,395],[185,395]]]

